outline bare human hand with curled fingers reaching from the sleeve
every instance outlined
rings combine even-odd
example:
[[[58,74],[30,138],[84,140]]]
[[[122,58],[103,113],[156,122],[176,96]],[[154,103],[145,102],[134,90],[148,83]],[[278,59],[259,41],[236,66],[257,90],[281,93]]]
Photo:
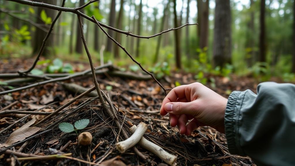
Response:
[[[224,133],[226,105],[226,98],[195,82],[173,88],[164,98],[160,114],[169,113],[171,127],[177,125],[180,134],[190,135],[199,126],[210,126]]]

